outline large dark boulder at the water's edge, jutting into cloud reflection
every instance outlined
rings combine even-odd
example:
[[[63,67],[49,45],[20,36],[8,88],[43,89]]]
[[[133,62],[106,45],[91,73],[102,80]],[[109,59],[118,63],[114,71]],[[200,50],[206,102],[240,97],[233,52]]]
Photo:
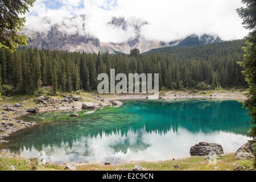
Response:
[[[190,155],[204,156],[208,155],[209,152],[216,152],[216,154],[224,154],[221,144],[218,143],[207,143],[200,142],[190,148]]]

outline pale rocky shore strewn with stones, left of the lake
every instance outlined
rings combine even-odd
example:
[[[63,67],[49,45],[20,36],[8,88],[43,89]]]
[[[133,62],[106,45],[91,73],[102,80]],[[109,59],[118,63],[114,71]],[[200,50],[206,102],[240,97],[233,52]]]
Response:
[[[6,98],[6,101],[13,100],[14,98]],[[3,101],[5,101],[3,100]],[[44,113],[47,111],[64,111],[64,110],[81,110],[81,109],[97,109],[104,106],[112,106],[112,103],[98,95],[92,97],[88,102],[84,102],[83,97],[79,96],[64,96],[64,98],[40,96],[34,99],[34,107],[26,107],[24,104],[27,99],[22,98],[22,102],[5,104],[3,111],[0,115],[0,144],[8,141],[4,140],[16,131],[27,129],[32,126],[37,126],[39,123],[36,121],[24,122],[21,119],[16,119],[22,115],[31,113]],[[117,102],[117,103],[116,103]],[[120,105],[119,101],[113,101],[113,105]],[[79,117],[78,115],[71,114],[71,117]]]

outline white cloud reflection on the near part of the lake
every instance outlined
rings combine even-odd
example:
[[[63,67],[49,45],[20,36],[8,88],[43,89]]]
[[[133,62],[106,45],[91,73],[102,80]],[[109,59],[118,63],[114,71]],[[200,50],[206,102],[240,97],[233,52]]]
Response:
[[[102,133],[96,137],[81,137],[74,140],[72,146],[62,142],[60,145],[53,144],[52,147],[43,146],[40,152],[34,147],[31,150],[24,148],[21,155],[27,158],[38,158],[42,155],[44,159],[52,163],[166,160],[189,156],[190,147],[199,142],[220,143],[224,152],[234,152],[246,143],[247,139],[249,138],[246,136],[223,131],[195,134],[180,128],[177,133],[170,130],[163,135],[158,131],[147,133],[145,129],[142,129],[136,132],[129,130],[123,136],[119,132],[109,135]],[[115,149],[116,146],[119,146],[118,150]],[[134,147],[137,147],[138,150],[133,150]]]

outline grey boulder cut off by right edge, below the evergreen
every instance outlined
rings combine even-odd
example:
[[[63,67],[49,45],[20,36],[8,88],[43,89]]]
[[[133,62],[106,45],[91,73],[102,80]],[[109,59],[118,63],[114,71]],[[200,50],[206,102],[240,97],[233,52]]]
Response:
[[[255,139],[254,139],[255,140]],[[254,158],[255,151],[253,149],[254,140],[248,140],[242,147],[236,151],[236,159],[252,159]]]

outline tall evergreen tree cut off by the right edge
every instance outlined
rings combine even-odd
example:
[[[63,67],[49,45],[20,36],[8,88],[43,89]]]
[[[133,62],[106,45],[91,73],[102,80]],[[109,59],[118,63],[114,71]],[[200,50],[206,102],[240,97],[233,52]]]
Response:
[[[246,7],[237,9],[238,15],[243,19],[243,24],[247,30],[250,30],[249,35],[246,37],[247,47],[243,48],[244,62],[242,63],[245,67],[243,74],[245,75],[246,81],[249,84],[247,89],[246,97],[247,100],[244,102],[244,106],[250,111],[251,123],[256,123],[256,1],[254,0],[242,0]],[[256,127],[252,127],[249,131],[251,137],[256,137]],[[256,146],[256,140],[254,140],[254,146]],[[254,147],[256,150],[256,148]],[[255,152],[256,157],[256,152]],[[254,162],[256,166],[256,159]]]

